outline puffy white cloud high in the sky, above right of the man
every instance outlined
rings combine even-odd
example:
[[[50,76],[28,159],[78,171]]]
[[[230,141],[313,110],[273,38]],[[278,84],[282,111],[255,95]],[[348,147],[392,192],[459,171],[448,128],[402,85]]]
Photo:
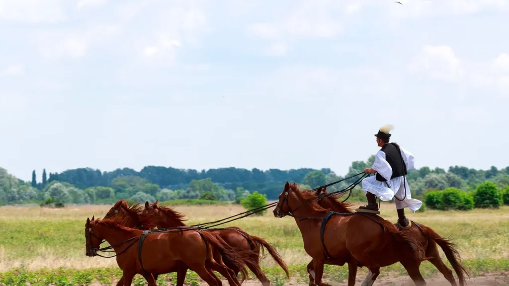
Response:
[[[412,59],[409,69],[411,73],[445,81],[457,81],[464,75],[460,59],[445,45],[424,46]]]

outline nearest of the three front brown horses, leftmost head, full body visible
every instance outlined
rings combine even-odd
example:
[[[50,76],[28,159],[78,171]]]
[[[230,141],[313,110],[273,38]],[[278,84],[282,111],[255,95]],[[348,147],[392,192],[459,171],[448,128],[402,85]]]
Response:
[[[235,251],[228,245],[222,245],[209,233],[177,230],[148,235],[143,241],[144,231],[122,226],[126,219],[114,216],[105,220],[94,220],[92,217],[92,221],[87,218],[85,224],[87,256],[97,255],[103,240],[115,250],[117,264],[123,271],[117,285],[130,286],[134,275],[140,274],[145,277],[149,286],[155,286],[153,274],[191,268],[209,285],[218,286],[221,285],[220,280],[211,269],[227,278],[231,277],[228,271],[221,269],[213,260],[212,248],[221,251],[224,257],[236,265],[241,265],[243,260],[249,259],[249,252]],[[154,222],[149,218],[149,221],[144,223],[155,226]],[[136,242],[138,247],[131,247]],[[231,286],[239,285],[236,279],[229,279],[229,282]]]

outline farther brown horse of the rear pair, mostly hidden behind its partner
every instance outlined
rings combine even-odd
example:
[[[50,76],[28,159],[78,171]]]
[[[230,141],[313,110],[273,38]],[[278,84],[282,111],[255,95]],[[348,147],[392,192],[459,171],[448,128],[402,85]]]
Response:
[[[315,195],[319,197],[317,202],[321,207],[338,213],[352,213],[350,208],[353,206],[353,204],[337,201],[337,199],[342,197],[345,193],[323,196],[325,194],[327,194],[326,188],[318,189],[315,192]],[[460,254],[456,248],[456,245],[451,243],[450,239],[444,239],[435,231],[433,231],[431,227],[420,223],[416,224],[415,222],[412,223],[409,232],[412,233],[413,237],[419,240],[419,243],[422,245],[423,249],[425,249],[428,261],[431,262],[431,264],[433,264],[438,269],[438,271],[444,275],[445,279],[447,279],[452,286],[457,286],[456,280],[453,276],[453,271],[451,271],[444,264],[442,258],[440,257],[437,244],[440,245],[450,265],[453,266],[453,269],[456,271],[460,285],[465,285],[465,274],[469,277],[470,275],[467,269],[459,262],[461,260]],[[308,272],[311,274],[309,268]],[[309,285],[313,284],[313,277],[312,275],[309,275]]]

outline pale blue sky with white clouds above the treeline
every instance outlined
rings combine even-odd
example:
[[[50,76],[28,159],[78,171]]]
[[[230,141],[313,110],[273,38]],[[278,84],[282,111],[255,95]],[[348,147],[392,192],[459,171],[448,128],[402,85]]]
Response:
[[[509,1],[0,0],[0,166],[509,165]]]

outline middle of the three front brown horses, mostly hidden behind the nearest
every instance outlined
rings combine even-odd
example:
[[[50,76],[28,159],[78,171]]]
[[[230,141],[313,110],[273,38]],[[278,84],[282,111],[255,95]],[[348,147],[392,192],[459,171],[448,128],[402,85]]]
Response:
[[[117,219],[121,222],[122,226],[131,227],[131,228],[137,228],[139,230],[150,230],[155,227],[157,227],[157,219],[158,216],[145,212],[143,205],[141,204],[128,204],[127,201],[121,200],[118,201],[104,216],[104,219],[110,219],[113,217],[117,217]],[[171,230],[174,232],[175,230]],[[194,232],[200,232],[200,230],[193,230]],[[217,239],[217,238],[216,238]],[[226,244],[221,238],[218,239],[218,241],[221,244]],[[219,251],[214,248],[210,247],[208,245],[209,251],[213,252],[213,257],[207,257],[206,260],[206,269],[209,271],[209,273],[214,277],[219,285],[222,284],[221,280],[212,272],[212,270],[215,270],[219,273],[221,273],[224,277],[226,277],[230,283],[230,285],[240,285],[240,282],[237,280],[237,276],[233,273],[231,269],[228,269],[227,266],[225,266],[222,263],[222,256],[219,253]],[[251,253],[249,253],[251,254]],[[244,256],[240,256],[239,259],[245,259]],[[218,265],[216,265],[216,262]],[[240,265],[240,264],[237,264]],[[182,285],[185,280],[186,272],[188,267],[183,265],[180,267],[177,272],[177,284]],[[232,272],[232,273],[230,273]],[[245,271],[244,271],[245,272]],[[243,272],[243,275],[245,275]],[[154,276],[154,279],[157,280],[158,274],[152,273]],[[121,286],[123,281],[123,277],[120,279],[117,286]]]

